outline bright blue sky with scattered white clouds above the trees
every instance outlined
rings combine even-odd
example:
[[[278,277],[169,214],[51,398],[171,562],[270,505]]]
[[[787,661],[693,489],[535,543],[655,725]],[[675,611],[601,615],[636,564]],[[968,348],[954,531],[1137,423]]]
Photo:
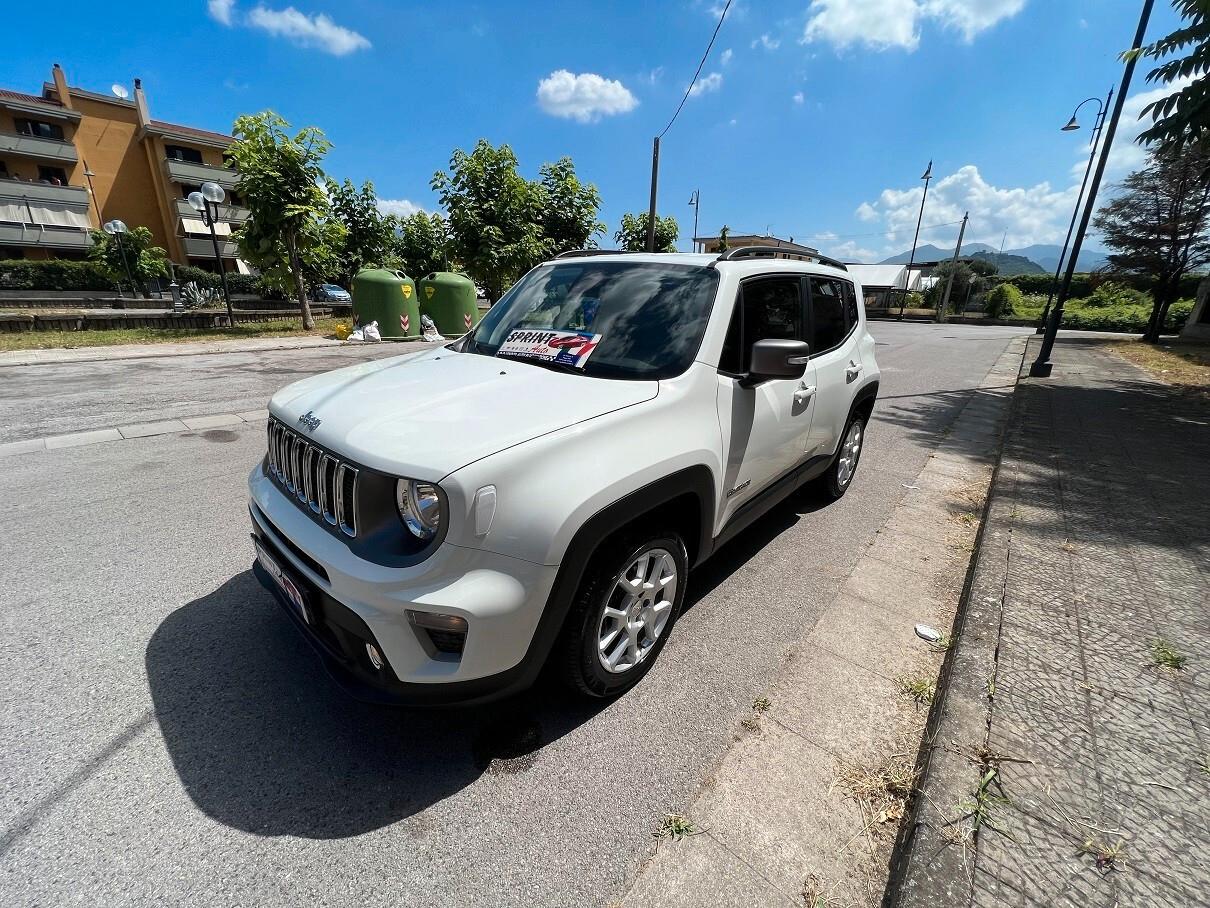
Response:
[[[526,176],[571,155],[612,232],[647,203],[651,137],[680,100],[715,0],[577,4],[413,0],[129,0],[121,13],[6,13],[0,86],[36,92],[51,63],[108,91],[143,79],[152,116],[220,131],[272,108],[322,127],[327,167],[371,179],[391,209],[437,207],[428,182],[455,146],[507,142]],[[659,211],[687,248],[722,224],[853,260],[972,212],[968,241],[1061,242],[1088,128],[1072,108],[1120,77],[1141,0],[737,0],[703,82],[664,138]],[[1151,36],[1176,18],[1160,0]],[[1140,68],[1111,179],[1130,148]],[[1131,113],[1134,111],[1134,113]],[[1091,125],[1095,105],[1083,111]],[[1078,171],[1078,172],[1077,172]],[[921,242],[952,245],[957,226]],[[609,245],[609,243],[605,243]]]

